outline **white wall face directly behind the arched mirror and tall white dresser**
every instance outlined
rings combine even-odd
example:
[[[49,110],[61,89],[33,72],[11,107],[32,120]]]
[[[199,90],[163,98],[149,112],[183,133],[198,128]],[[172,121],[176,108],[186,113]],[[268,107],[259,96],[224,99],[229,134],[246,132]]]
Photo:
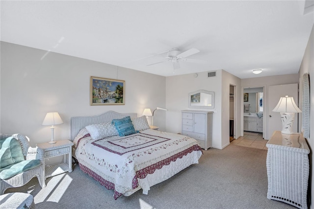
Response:
[[[166,131],[175,133],[181,132],[181,110],[188,109],[188,94],[190,92],[197,90],[214,91],[215,109],[203,110],[214,111],[212,147],[221,149],[221,79],[221,70],[216,72],[216,77],[211,78],[208,78],[208,72],[198,73],[197,78],[194,77],[194,74],[167,77],[166,108],[169,110],[166,115]]]

